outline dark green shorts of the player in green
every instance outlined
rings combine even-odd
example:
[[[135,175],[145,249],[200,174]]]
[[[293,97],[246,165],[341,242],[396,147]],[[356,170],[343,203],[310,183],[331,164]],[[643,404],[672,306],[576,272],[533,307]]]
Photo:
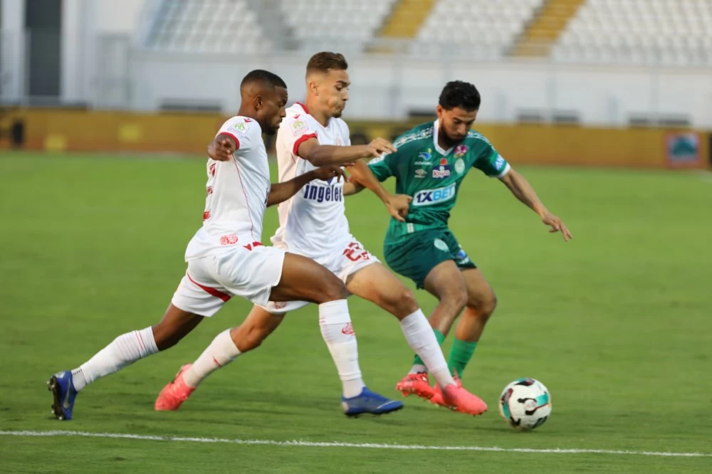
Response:
[[[455,260],[458,268],[477,268],[448,229],[418,231],[383,246],[386,263],[399,275],[410,278],[423,288],[430,270],[446,260]]]

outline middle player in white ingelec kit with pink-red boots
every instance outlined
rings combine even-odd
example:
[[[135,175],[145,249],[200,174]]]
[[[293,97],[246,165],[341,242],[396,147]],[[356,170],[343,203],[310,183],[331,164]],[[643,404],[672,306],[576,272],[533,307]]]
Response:
[[[317,53],[310,59],[306,104],[297,103],[286,110],[287,117],[277,134],[280,181],[303,176],[318,166],[370,157],[372,147],[378,146],[379,139],[371,145],[350,146],[348,127],[340,119],[348,100],[347,67],[345,58],[337,53]],[[392,145],[388,144],[387,152],[390,151]],[[211,156],[220,159],[217,154]],[[368,187],[384,201],[394,217],[399,218],[400,212],[407,211],[408,201],[403,200],[406,196],[389,196],[367,167],[362,166],[360,170],[370,175]],[[280,204],[280,227],[272,238],[274,246],[313,258],[342,280],[350,293],[374,302],[397,317],[410,347],[422,357],[443,389],[446,406],[466,414],[482,414],[487,409],[486,404],[451,376],[434,332],[413,293],[350,233],[343,199],[361,189],[361,185],[336,180],[313,181],[304,186]],[[240,340],[248,336],[261,342],[287,312],[307,304],[276,298],[271,298],[266,305],[256,304],[243,324],[231,330],[234,342],[238,347],[249,347],[251,344]],[[347,415],[351,414],[350,404],[367,390],[358,364],[351,320],[320,314],[319,325],[342,381],[343,408]],[[220,360],[221,354],[217,340],[194,364],[184,365],[176,378],[164,387],[156,400],[156,409],[178,409],[202,380],[224,365],[214,362]]]

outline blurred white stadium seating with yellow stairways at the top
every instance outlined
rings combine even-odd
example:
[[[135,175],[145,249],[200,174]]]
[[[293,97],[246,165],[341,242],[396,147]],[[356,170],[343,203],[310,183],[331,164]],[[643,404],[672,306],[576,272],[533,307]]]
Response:
[[[712,64],[712,0],[426,3],[422,11],[414,12],[412,0],[290,0],[273,1],[268,7],[250,0],[157,0],[145,46],[161,51],[253,54],[288,44],[304,51],[362,52],[395,51],[369,45],[397,39],[406,42],[398,51],[409,51],[412,56],[476,60],[550,56],[576,63]],[[269,28],[261,9],[272,14],[273,8],[278,9],[278,26]],[[557,27],[551,28],[554,23]],[[534,43],[540,36],[545,44],[538,47]]]

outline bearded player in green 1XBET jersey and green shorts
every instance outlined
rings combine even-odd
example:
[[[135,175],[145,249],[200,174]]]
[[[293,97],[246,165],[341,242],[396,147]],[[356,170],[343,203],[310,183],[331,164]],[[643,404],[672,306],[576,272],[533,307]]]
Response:
[[[405,132],[395,142],[397,152],[372,159],[369,167],[384,181],[396,179],[396,192],[412,196],[404,222],[392,219],[384,241],[388,265],[411,278],[439,300],[429,318],[440,343],[464,309],[455,328],[448,365],[461,375],[496,307],[487,280],[448,227],[450,211],[467,172],[477,168],[496,177],[512,194],[540,216],[550,232],[572,236],[561,219],[542,204],[528,181],[497,152],[492,144],[471,130],[480,107],[474,85],[459,80],[447,83],[437,106],[438,118]],[[355,174],[355,180],[359,176]],[[404,395],[417,394],[442,404],[437,387],[429,384],[427,369],[415,357],[409,374],[396,385]]]

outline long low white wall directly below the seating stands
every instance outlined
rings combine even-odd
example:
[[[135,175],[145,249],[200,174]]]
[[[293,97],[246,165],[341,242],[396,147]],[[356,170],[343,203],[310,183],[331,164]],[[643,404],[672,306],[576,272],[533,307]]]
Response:
[[[290,98],[303,98],[309,56],[265,57],[139,51],[132,56],[128,104],[136,111],[166,103],[204,103],[225,113],[239,107],[239,83],[254,68],[284,78]],[[483,102],[479,120],[513,123],[523,115],[543,122],[572,117],[582,125],[620,127],[634,117],[681,119],[712,129],[712,69],[572,65],[548,60],[481,63],[455,58],[350,56],[347,114],[359,120],[406,120],[431,112],[444,84],[474,83]]]

